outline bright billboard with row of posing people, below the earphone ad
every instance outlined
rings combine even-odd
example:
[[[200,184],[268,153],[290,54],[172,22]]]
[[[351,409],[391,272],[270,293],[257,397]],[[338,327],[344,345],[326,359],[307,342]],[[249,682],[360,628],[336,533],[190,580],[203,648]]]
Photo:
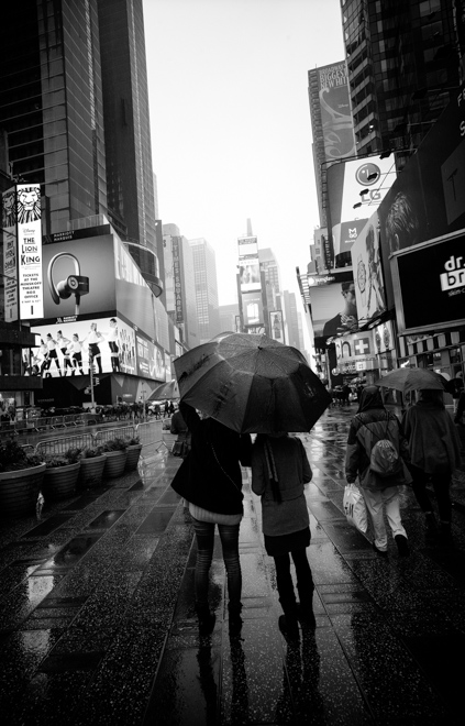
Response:
[[[32,365],[44,377],[87,375],[91,356],[97,375],[137,373],[135,332],[118,318],[33,326],[31,332],[40,341]]]

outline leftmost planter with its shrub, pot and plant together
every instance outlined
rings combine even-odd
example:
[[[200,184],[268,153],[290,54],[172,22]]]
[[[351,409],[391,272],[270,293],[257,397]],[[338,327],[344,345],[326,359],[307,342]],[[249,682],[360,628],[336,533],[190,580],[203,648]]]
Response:
[[[33,514],[45,473],[42,457],[13,439],[0,446],[0,517]]]

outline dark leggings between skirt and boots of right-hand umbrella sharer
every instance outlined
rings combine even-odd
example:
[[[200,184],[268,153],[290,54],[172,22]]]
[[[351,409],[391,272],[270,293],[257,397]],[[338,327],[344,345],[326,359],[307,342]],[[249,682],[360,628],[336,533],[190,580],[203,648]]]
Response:
[[[296,565],[297,590],[299,591],[300,604],[310,607],[313,598],[313,579],[307,559],[307,550],[295,550],[290,553]],[[290,574],[289,553],[274,556],[276,566],[276,584],[278,586],[279,602],[285,614],[292,614],[296,609],[296,593],[294,591],[292,576]]]

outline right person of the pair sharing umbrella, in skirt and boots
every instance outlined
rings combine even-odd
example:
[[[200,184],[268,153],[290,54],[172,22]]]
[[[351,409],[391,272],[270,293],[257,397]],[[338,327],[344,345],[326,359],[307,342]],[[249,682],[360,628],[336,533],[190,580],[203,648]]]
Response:
[[[312,627],[313,579],[307,547],[310,544],[309,513],[303,485],[312,472],[300,439],[278,433],[258,435],[252,449],[252,490],[262,497],[263,534],[267,554],[274,558],[279,603],[284,615],[278,625],[283,635],[299,638],[298,619]],[[296,593],[290,557],[296,565]]]

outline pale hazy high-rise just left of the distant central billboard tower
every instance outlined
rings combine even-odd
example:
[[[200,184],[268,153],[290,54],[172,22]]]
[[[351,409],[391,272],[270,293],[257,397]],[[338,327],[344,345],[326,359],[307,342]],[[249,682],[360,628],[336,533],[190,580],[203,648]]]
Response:
[[[221,332],[217,257],[213,248],[203,238],[189,240],[189,245],[193,257],[199,338],[200,343],[208,343]]]

